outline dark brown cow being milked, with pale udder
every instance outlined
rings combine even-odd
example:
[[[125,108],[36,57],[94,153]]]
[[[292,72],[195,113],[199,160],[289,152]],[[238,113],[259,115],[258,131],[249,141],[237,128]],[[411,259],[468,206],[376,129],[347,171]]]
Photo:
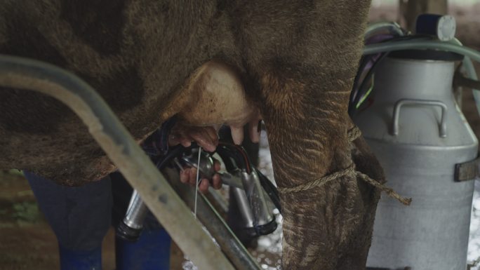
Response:
[[[241,126],[263,119],[284,215],[282,269],[364,269],[380,193],[359,175],[385,177],[352,135],[347,105],[369,4],[1,0],[0,53],[84,79],[138,142],[172,116],[227,123],[236,142]],[[0,150],[0,168],[71,186],[116,170],[65,105],[25,90],[0,90]]]

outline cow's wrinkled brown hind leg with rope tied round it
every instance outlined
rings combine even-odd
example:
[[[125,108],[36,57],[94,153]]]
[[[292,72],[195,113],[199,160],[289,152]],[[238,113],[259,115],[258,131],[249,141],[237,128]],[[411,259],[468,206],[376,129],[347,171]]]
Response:
[[[284,211],[282,269],[364,269],[376,191],[352,173],[292,190],[343,172],[353,162],[364,173],[378,172],[364,161],[368,153],[349,140],[350,83],[337,80],[335,91],[321,91],[314,80],[287,73],[261,78],[262,116]]]

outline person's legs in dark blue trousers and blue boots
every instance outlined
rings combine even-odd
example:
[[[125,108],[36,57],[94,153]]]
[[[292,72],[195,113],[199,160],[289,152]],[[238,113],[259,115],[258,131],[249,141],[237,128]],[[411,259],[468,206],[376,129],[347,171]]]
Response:
[[[58,239],[62,270],[100,270],[102,241],[123,220],[132,188],[120,173],[82,187],[64,187],[24,172]],[[169,269],[170,236],[149,213],[136,243],[116,239],[116,269]]]

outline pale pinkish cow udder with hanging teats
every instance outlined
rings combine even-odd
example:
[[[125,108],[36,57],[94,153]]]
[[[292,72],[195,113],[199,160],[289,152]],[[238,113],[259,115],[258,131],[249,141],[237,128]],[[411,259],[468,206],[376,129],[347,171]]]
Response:
[[[243,127],[249,123],[251,140],[258,142],[260,113],[246,97],[244,85],[234,68],[222,62],[206,62],[190,77],[186,90],[189,102],[178,113],[182,123],[192,126],[226,124],[236,144],[244,139]]]

